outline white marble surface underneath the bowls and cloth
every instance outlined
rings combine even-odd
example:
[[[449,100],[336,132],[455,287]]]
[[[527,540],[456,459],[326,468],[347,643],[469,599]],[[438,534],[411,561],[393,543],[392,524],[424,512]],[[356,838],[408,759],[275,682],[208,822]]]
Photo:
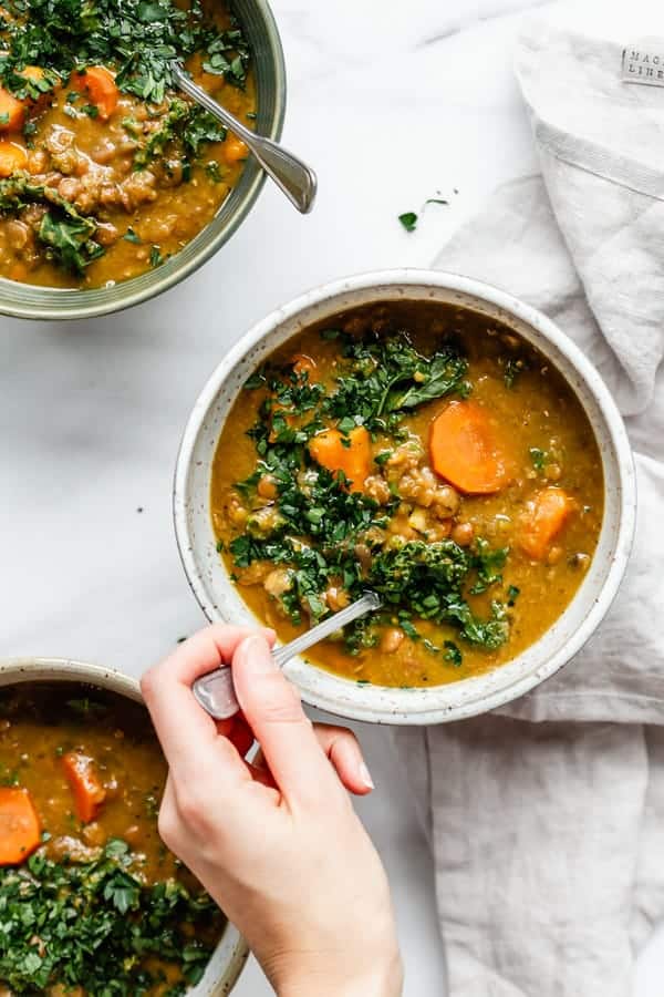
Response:
[[[274,0],[289,66],[284,137],[318,167],[314,214],[299,217],[266,188],[217,258],[154,302],[86,325],[0,320],[2,656],[80,657],[138,675],[200,625],[169,505],[199,388],[278,304],[353,271],[426,266],[497,184],[533,168],[510,71],[520,11],[533,6]],[[406,235],[396,216],[436,192],[449,207],[429,205]],[[394,886],[406,997],[438,997],[426,844],[386,732],[360,734],[378,787],[361,810]],[[654,944],[635,997],[662,997],[663,970]],[[250,964],[236,993],[270,990]]]

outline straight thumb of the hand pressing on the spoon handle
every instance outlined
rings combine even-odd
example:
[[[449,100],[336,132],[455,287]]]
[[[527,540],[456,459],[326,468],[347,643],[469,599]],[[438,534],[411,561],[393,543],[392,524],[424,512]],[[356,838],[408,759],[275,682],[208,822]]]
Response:
[[[232,657],[236,695],[287,800],[313,802],[340,785],[304,715],[295,688],[277,667],[264,637],[247,637]]]

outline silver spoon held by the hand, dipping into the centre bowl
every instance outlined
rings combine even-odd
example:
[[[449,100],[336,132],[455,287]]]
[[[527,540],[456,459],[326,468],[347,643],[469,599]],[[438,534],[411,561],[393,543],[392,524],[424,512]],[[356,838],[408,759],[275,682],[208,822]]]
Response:
[[[375,592],[365,592],[361,598],[351,603],[345,609],[334,613],[328,619],[318,624],[318,626],[312,627],[311,630],[307,630],[305,634],[289,641],[289,644],[276,648],[272,651],[272,657],[279,668],[283,668],[286,662],[294,658],[295,655],[301,655],[302,651],[313,647],[319,640],[324,640],[325,637],[341,629],[341,627],[345,627],[346,624],[352,623],[357,617],[365,616],[365,614],[380,608],[380,596]],[[230,668],[217,668],[216,671],[210,671],[209,675],[204,675],[201,678],[196,679],[191,691],[197,702],[215,720],[228,720],[229,717],[235,717],[240,709],[235,695]]]

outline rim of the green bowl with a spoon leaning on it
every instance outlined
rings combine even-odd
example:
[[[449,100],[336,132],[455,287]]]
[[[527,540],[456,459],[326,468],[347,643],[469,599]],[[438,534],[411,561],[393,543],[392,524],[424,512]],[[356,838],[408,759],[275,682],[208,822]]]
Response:
[[[248,2],[255,9],[256,16],[261,21],[261,29],[266,32],[267,48],[264,51],[268,56],[266,65],[271,68],[268,72],[273,75],[269,85],[274,89],[274,112],[269,127],[261,131],[261,134],[279,142],[283,130],[287,96],[283,48],[268,0],[248,0]],[[240,20],[243,19],[240,17]],[[260,66],[256,55],[253,65],[255,72],[260,76]],[[260,106],[258,113],[260,115]],[[0,315],[33,320],[90,319],[124,311],[126,308],[133,308],[142,301],[157,297],[189,277],[228,241],[256,204],[266,179],[266,172],[251,156],[247,161],[238,185],[231,189],[205,228],[197,233],[179,253],[176,253],[157,269],[128,280],[121,280],[113,287],[96,287],[87,290],[41,287],[0,277]],[[229,213],[228,219],[210,237],[211,227],[218,223],[225,210]]]

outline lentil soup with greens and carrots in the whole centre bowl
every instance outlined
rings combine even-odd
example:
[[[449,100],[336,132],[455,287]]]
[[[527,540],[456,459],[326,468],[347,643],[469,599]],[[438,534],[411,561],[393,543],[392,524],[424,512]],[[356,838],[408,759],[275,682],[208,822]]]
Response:
[[[363,306],[247,381],[211,518],[252,611],[292,639],[363,589],[384,608],[310,660],[415,687],[486,672],[560,617],[603,515],[594,433],[562,376],[468,308]]]

